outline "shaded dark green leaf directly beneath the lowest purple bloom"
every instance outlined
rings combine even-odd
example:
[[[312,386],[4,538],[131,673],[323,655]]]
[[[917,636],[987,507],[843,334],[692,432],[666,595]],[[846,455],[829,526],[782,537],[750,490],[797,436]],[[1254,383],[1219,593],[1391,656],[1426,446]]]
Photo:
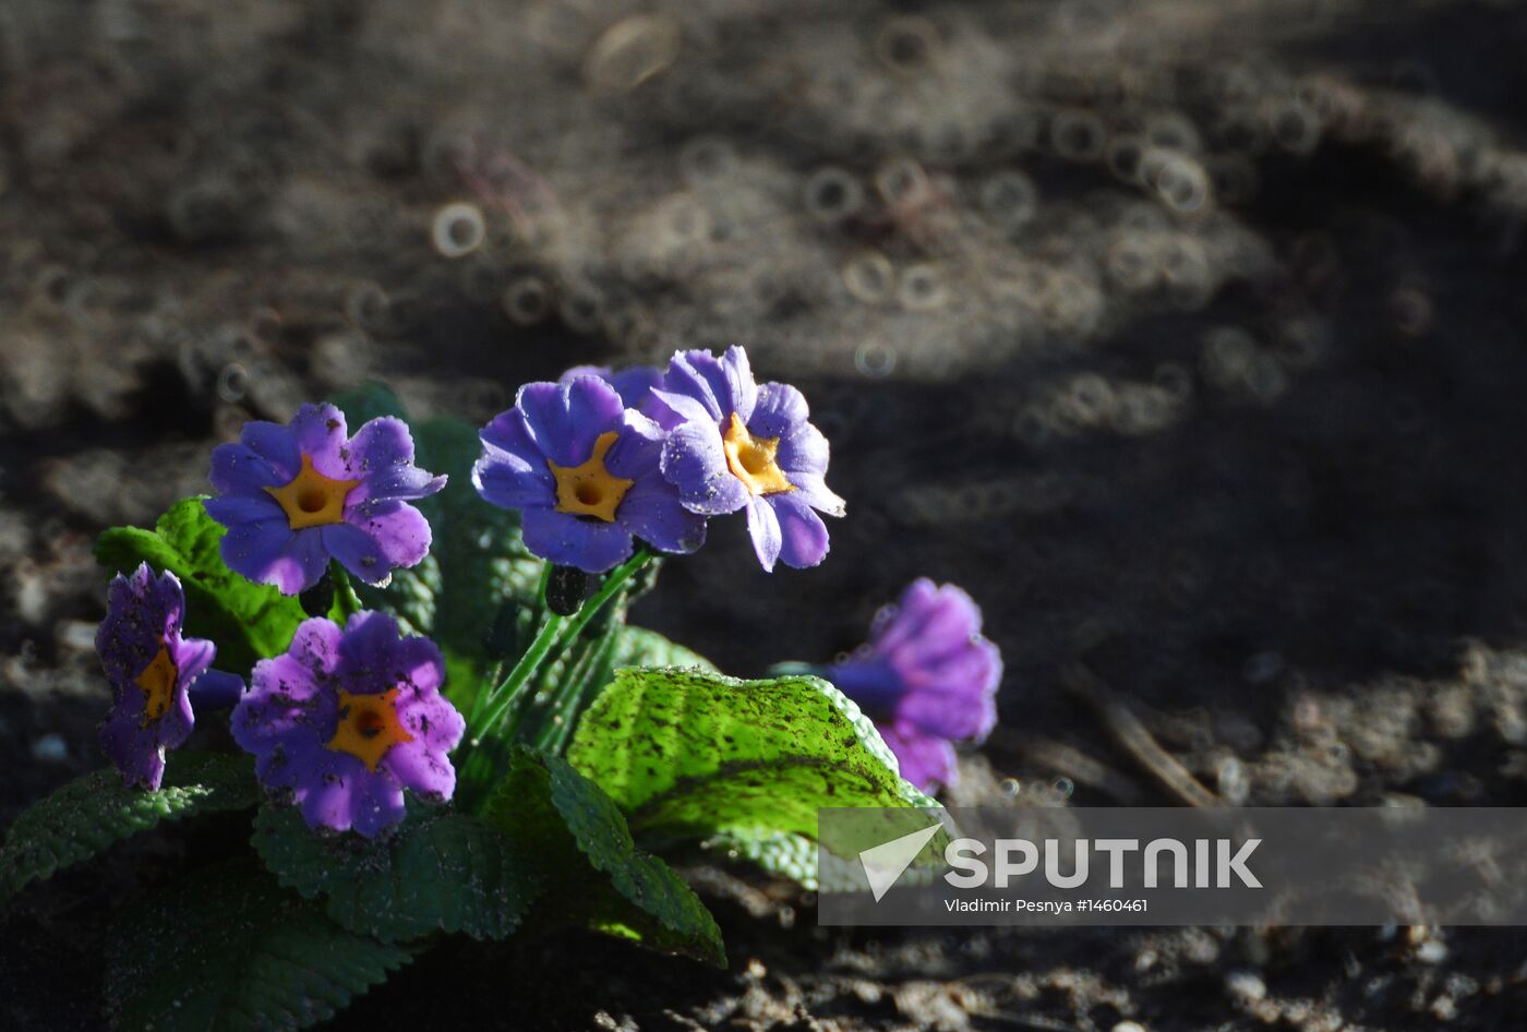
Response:
[[[504,939],[539,887],[502,832],[441,809],[412,812],[392,835],[370,841],[315,834],[298,811],[266,806],[253,846],[282,885],[327,896],[331,919],[386,942],[432,931]]]

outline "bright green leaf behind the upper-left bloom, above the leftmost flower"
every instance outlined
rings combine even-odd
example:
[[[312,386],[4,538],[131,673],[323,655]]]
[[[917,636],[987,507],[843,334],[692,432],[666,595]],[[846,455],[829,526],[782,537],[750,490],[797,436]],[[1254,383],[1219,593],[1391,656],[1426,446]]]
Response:
[[[286,652],[305,618],[295,597],[257,585],[223,563],[223,525],[206,514],[202,498],[185,498],[154,530],[111,527],[96,542],[96,562],[131,572],[140,562],[180,577],[186,592],[185,632],[217,643],[218,666],[249,670],[257,660]]]

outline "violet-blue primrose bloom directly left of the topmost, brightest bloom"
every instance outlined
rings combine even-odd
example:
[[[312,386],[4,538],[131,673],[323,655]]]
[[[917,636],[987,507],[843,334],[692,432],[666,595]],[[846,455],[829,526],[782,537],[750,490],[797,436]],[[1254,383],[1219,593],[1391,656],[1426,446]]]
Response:
[[[524,510],[525,547],[591,574],[632,553],[632,537],[690,553],[705,521],[663,479],[663,429],[594,376],[527,383],[483,427],[472,482],[489,502]]]

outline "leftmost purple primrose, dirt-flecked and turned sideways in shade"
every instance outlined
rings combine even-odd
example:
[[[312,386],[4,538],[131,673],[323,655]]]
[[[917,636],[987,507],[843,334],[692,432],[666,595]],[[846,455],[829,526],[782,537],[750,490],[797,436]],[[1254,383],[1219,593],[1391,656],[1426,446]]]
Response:
[[[118,574],[108,611],[96,630],[96,652],[111,682],[111,711],[101,724],[101,748],[127,785],[157,789],[165,750],[180,747],[195,718],[189,689],[215,681],[215,690],[238,678],[208,672],[215,649],[203,638],[182,638],[186,600],[171,572],[157,579],[148,563],[130,577]]]

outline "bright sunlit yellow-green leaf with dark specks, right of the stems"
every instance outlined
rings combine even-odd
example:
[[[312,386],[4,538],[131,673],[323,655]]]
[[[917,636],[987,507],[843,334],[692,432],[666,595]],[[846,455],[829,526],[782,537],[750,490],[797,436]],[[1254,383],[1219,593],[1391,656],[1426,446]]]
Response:
[[[736,681],[625,669],[588,708],[568,760],[643,838],[718,832],[815,838],[822,806],[931,806],[873,724],[826,681]]]

